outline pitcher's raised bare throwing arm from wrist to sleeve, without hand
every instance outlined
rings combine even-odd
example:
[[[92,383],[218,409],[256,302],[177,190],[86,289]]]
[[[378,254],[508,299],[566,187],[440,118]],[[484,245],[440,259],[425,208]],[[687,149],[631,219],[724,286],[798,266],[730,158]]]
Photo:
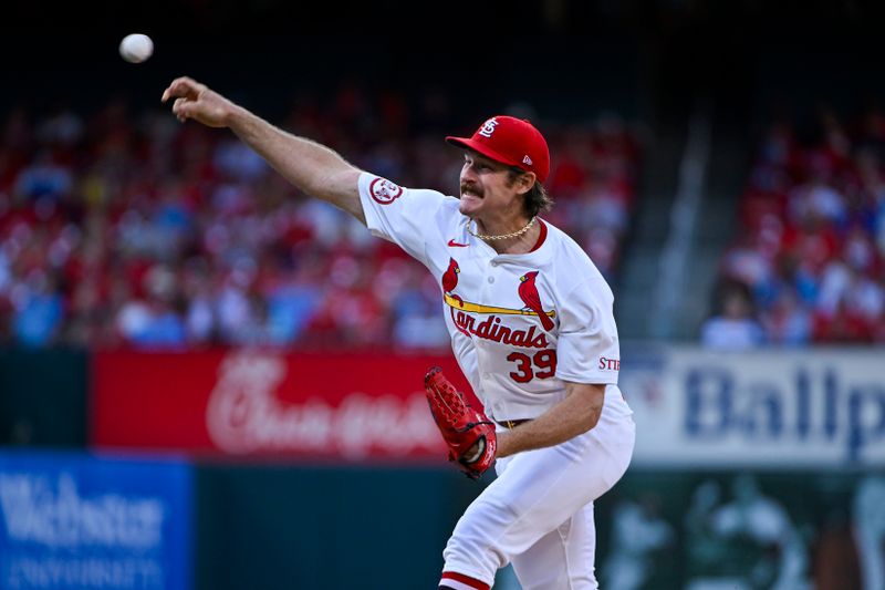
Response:
[[[360,170],[337,153],[271,125],[242,107],[227,118],[230,130],[287,180],[365,222],[360,203]]]

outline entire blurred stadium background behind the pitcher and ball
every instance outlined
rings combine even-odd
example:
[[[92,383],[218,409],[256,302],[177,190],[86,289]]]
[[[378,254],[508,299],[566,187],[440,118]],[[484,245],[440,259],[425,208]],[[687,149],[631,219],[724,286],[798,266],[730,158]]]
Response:
[[[546,219],[615,292],[638,425],[596,506],[602,587],[885,589],[883,12],[13,2],[0,589],[435,588],[488,484],[445,465],[424,402],[431,364],[466,387],[439,287],[179,124],[159,97],[185,74],[447,194],[446,134],[530,118]]]

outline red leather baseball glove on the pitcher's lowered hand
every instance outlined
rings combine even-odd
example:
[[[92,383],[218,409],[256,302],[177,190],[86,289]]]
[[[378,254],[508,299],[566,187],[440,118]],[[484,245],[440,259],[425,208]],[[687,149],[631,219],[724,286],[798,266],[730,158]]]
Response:
[[[434,421],[449,446],[449,460],[457,462],[467,477],[478,479],[494,462],[498,448],[494,424],[467,405],[464,395],[438,366],[427,372],[424,390]]]

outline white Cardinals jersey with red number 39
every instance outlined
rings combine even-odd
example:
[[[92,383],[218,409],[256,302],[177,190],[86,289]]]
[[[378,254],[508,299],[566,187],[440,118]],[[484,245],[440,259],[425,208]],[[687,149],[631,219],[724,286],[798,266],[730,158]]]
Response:
[[[490,418],[540,416],[563,381],[616,387],[612,290],[563,231],[541,221],[531,252],[501,255],[467,231],[455,197],[363,173],[360,198],[369,230],[437,279],[452,350]]]

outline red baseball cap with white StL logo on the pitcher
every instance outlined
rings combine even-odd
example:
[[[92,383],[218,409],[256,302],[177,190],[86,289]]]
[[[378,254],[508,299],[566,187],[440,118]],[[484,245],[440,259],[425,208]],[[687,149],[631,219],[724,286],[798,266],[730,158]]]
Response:
[[[542,184],[550,174],[546,141],[534,125],[523,118],[496,115],[480,125],[472,137],[449,135],[446,141],[479,152],[501,164],[533,172]]]

